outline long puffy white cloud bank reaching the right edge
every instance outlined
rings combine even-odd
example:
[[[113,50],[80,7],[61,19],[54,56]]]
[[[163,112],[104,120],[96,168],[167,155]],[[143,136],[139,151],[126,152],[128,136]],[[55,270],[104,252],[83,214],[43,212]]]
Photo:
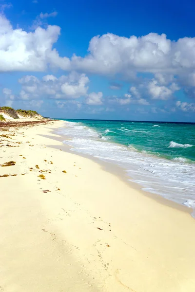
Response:
[[[177,41],[165,34],[119,37],[113,34],[93,37],[85,57],[73,55],[71,66],[92,73],[128,74],[129,71],[181,73],[195,69],[195,38]]]

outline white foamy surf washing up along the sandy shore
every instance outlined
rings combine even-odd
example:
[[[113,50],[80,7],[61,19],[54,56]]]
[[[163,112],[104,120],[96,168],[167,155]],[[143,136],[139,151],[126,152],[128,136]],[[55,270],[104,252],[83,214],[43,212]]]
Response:
[[[195,201],[195,164],[186,163],[185,158],[162,159],[149,152],[138,152],[132,145],[106,141],[101,133],[79,123],[68,122],[67,126],[61,133],[72,138],[64,140],[71,150],[123,167],[129,177],[147,191],[180,204]]]

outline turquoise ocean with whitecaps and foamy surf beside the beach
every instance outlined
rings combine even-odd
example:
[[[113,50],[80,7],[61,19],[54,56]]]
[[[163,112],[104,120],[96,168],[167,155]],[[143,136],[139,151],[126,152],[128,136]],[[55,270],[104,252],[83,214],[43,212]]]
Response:
[[[117,164],[143,190],[195,209],[195,124],[65,121],[60,133],[71,150]]]

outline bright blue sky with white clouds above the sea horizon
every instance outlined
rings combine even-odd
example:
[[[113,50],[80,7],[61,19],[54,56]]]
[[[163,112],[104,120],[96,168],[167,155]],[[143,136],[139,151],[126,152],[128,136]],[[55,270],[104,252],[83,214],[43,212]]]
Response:
[[[195,122],[193,1],[0,0],[0,105]]]

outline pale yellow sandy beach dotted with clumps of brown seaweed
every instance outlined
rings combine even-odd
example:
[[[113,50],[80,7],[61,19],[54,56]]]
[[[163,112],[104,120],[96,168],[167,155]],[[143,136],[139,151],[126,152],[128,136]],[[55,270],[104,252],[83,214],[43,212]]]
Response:
[[[189,212],[67,152],[64,121],[20,125],[0,127],[0,291],[195,291]]]

